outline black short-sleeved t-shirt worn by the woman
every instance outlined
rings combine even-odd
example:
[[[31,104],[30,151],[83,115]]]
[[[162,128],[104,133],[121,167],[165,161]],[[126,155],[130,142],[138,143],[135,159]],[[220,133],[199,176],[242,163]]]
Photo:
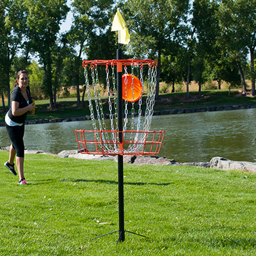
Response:
[[[30,95],[30,89],[29,86],[27,86],[26,91],[28,93],[28,99],[29,99],[29,104],[32,103],[31,100],[31,95]],[[12,90],[12,95],[11,95],[11,106],[10,109],[8,111],[8,116],[10,117],[10,119],[13,122],[16,122],[18,124],[23,124],[27,118],[27,112],[24,113],[21,116],[13,116],[12,115],[12,101],[17,101],[19,102],[19,108],[25,108],[26,106],[28,106],[28,103],[26,102],[26,99],[23,97],[22,92],[19,88],[19,86],[15,86]]]

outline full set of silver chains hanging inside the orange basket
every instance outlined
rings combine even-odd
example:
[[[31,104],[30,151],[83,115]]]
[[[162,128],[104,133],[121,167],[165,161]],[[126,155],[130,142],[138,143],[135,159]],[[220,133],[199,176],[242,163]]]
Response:
[[[111,84],[109,79],[109,65],[110,63],[106,64],[106,86],[108,92],[108,104],[109,104],[109,118],[111,123],[111,133],[112,138],[111,140],[113,143],[109,143],[109,132],[106,130],[106,123],[104,121],[104,109],[102,104],[102,99],[100,96],[100,81],[99,81],[99,74],[98,68],[96,63],[91,63],[91,72],[92,72],[92,88],[90,90],[90,83],[88,79],[88,71],[87,71],[87,64],[84,66],[84,77],[85,77],[85,85],[86,91],[88,93],[88,102],[89,102],[89,109],[90,109],[90,118],[92,120],[93,129],[95,130],[95,139],[99,141],[99,145],[102,150],[105,152],[111,152],[114,154],[118,154],[120,152],[119,145],[118,145],[118,116],[117,116],[117,90],[116,90],[116,77],[115,77],[115,63],[111,63],[112,69],[112,81],[113,81],[113,98],[111,97]],[[137,65],[137,64],[136,64]],[[144,147],[143,142],[147,140],[147,131],[150,129],[150,125],[152,122],[152,115],[154,114],[154,104],[156,99],[156,83],[157,83],[157,66],[155,62],[148,62],[148,74],[147,74],[147,99],[146,99],[146,109],[145,109],[145,117],[144,122],[141,120],[143,118],[142,113],[142,103],[143,98],[142,94],[140,95],[140,99],[138,100],[138,123],[136,124],[137,131],[134,131],[134,123],[135,123],[135,101],[134,101],[134,90],[136,89],[134,86],[134,67],[135,65],[131,63],[131,136],[130,136],[130,143],[127,149],[124,149],[124,152],[138,152],[141,147]],[[143,80],[143,63],[140,63],[140,82],[141,82],[141,90],[144,92],[144,80]],[[128,125],[128,116],[129,116],[129,108],[128,108],[128,100],[127,100],[127,83],[128,83],[128,72],[127,72],[127,65],[125,64],[124,67],[125,79],[124,79],[124,94],[125,94],[125,109],[124,109],[124,129],[123,131],[127,130]],[[130,90],[130,88],[129,88]],[[92,93],[94,94],[95,100],[95,111],[97,115],[94,114],[93,103],[92,103]],[[113,99],[113,102],[111,101]],[[99,123],[99,129],[97,129],[97,120]],[[115,119],[115,120],[114,120]],[[139,132],[141,122],[143,122],[143,132]],[[98,132],[98,131],[104,132]],[[125,133],[124,133],[125,134]],[[127,133],[128,134],[128,133]],[[102,143],[102,144],[101,144]]]

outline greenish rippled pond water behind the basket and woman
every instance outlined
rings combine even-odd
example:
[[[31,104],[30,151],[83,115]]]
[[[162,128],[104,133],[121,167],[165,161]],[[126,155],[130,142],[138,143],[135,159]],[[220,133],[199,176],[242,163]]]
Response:
[[[157,156],[177,162],[206,162],[220,156],[256,162],[256,109],[153,116],[150,131],[165,130]],[[24,142],[29,150],[58,154],[77,149],[75,129],[92,130],[91,121],[26,125]],[[0,127],[0,147],[10,145]]]

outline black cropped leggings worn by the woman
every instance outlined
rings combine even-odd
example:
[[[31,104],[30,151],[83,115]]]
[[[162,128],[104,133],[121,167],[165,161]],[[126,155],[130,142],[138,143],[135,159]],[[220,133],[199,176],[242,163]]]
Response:
[[[21,126],[9,126],[5,124],[7,133],[12,141],[12,147],[16,150],[17,157],[24,157],[24,131],[25,124]]]

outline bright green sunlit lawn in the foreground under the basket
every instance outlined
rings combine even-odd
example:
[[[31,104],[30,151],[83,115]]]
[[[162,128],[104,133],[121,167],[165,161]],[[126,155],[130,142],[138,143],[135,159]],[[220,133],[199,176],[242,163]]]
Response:
[[[118,233],[112,161],[25,156],[17,185],[0,152],[1,255],[255,255],[256,175],[191,166],[124,164],[125,230]],[[108,224],[101,224],[108,223]]]

